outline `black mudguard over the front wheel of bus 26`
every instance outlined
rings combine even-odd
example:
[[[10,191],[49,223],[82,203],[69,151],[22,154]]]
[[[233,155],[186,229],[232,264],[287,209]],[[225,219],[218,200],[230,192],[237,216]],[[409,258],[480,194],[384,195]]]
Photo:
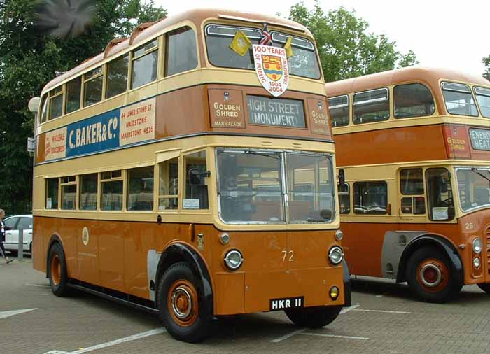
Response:
[[[451,261],[451,268],[454,271],[454,275],[456,278],[463,284],[464,282],[464,272],[463,272],[463,262],[461,262],[461,258],[459,257],[458,250],[454,248],[451,242],[444,239],[444,237],[426,234],[416,239],[412,240],[405,250],[403,251],[402,257],[400,258],[400,264],[398,265],[398,273],[396,276],[396,282],[402,283],[403,281],[407,281],[407,276],[405,272],[405,267],[407,265],[408,259],[412,253],[416,250],[416,248],[420,248],[423,246],[436,246],[440,250],[444,252],[444,254]]]

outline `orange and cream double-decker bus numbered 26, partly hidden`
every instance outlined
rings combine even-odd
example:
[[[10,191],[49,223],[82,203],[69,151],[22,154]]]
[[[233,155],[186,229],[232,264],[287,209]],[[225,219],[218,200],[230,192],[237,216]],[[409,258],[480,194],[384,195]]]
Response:
[[[325,85],[352,274],[490,292],[490,82],[412,67]]]

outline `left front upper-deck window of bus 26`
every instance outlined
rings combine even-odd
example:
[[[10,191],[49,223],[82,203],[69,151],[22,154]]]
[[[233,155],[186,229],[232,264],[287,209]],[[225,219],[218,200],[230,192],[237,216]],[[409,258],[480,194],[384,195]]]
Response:
[[[442,94],[450,114],[478,116],[471,89],[462,83],[442,83]]]

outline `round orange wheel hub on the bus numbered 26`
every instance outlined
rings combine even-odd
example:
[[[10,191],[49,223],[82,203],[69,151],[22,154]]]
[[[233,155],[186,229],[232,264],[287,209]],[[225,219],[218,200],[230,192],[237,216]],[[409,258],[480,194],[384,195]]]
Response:
[[[449,281],[449,269],[441,260],[428,258],[419,263],[416,278],[426,292],[440,292]]]

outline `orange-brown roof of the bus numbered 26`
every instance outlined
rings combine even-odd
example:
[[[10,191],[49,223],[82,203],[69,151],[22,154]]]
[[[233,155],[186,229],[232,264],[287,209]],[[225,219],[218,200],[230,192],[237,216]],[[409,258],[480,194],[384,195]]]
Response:
[[[431,87],[437,87],[441,79],[490,86],[490,81],[482,76],[451,69],[409,66],[407,68],[327,83],[325,84],[325,89],[328,97],[335,97],[341,94],[348,94],[349,92],[372,90],[373,88],[405,83],[407,81],[423,81]]]

